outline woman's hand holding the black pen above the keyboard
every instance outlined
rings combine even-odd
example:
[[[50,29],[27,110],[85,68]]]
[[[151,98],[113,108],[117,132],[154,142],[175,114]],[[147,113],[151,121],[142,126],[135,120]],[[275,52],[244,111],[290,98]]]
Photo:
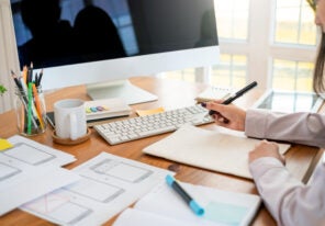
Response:
[[[243,109],[233,104],[222,104],[222,101],[208,102],[203,106],[217,112],[212,114],[217,125],[235,131],[245,131],[246,111]]]

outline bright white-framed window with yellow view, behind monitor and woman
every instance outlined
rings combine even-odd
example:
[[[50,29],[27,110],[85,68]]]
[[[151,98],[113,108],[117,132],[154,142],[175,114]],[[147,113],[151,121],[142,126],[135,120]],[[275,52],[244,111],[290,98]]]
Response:
[[[215,0],[215,5],[222,55],[206,82],[236,88],[257,80],[261,89],[312,91],[317,29],[306,0]],[[190,71],[178,71],[179,78],[198,80]]]

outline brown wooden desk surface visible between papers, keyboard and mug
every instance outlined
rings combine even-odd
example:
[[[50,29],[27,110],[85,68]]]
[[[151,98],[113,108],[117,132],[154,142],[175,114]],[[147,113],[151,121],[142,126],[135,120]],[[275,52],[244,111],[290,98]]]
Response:
[[[131,79],[131,81],[146,89],[159,97],[158,101],[136,104],[133,105],[133,109],[153,109],[157,106],[165,106],[167,109],[176,106],[186,106],[194,104],[195,95],[201,92],[205,87],[203,84],[191,84],[181,81],[172,80],[161,80],[155,79],[152,77],[137,77]],[[242,108],[250,106],[255,100],[261,94],[261,91],[255,89],[254,91],[248,92],[243,98],[236,100],[236,104]],[[89,100],[89,97],[86,94],[86,89],[83,86],[65,88],[59,90],[59,92],[52,92],[46,94],[46,105],[47,111],[53,111],[53,103],[60,99],[67,98],[79,98],[82,100]],[[135,116],[133,114],[132,116]],[[5,112],[0,115],[0,137],[8,138],[18,133],[15,126],[15,114],[13,111]],[[208,129],[215,129],[214,124],[209,124],[202,126]],[[164,137],[168,134],[158,135],[149,138],[144,138],[135,142],[130,142],[116,146],[110,146],[101,136],[92,131],[91,138],[80,145],[75,146],[64,146],[53,143],[52,131],[47,128],[46,132],[42,135],[30,137],[33,140],[48,145],[56,149],[69,152],[78,159],[76,162],[66,166],[67,169],[72,169],[74,167],[91,159],[101,151],[107,151],[113,155],[121,157],[135,159],[148,165],[160,167],[164,169],[170,169],[177,172],[176,178],[194,184],[201,184],[206,187],[212,187],[222,190],[228,190],[234,192],[244,192],[257,194],[256,187],[251,180],[217,173],[214,171],[203,170],[191,166],[186,166],[182,163],[177,163],[173,161],[160,159],[157,157],[152,157],[144,155],[142,149]],[[287,154],[287,167],[289,171],[294,174],[298,179],[306,182],[311,176],[311,172],[314,169],[315,162],[320,159],[322,150],[314,147],[293,145],[292,148]],[[111,225],[114,222],[114,218],[109,221],[105,225]],[[27,214],[20,210],[14,210],[9,214],[0,217],[0,225],[53,225],[46,221],[43,221],[36,216]],[[253,225],[258,226],[272,226],[276,225],[276,222],[269,214],[269,212],[261,206],[256,218],[254,219]]]

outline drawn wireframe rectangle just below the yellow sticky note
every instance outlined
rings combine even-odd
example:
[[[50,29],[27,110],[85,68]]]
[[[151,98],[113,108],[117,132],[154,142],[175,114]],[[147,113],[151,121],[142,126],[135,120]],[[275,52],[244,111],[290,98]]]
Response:
[[[14,147],[4,150],[3,155],[33,166],[42,165],[55,158],[54,155],[24,143],[15,144]]]

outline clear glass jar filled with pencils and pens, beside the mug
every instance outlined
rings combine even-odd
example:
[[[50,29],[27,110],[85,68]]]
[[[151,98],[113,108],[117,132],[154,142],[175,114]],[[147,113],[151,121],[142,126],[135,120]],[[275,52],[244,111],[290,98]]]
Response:
[[[30,83],[15,90],[16,125],[20,134],[33,136],[46,129],[46,105],[42,87]]]

